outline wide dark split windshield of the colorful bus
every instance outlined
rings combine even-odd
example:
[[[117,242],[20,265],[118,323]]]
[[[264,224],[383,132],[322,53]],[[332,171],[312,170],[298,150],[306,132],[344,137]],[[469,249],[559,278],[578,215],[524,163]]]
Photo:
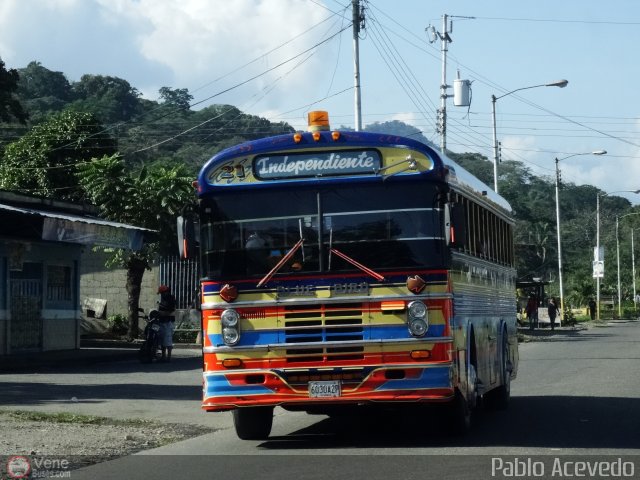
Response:
[[[256,189],[203,200],[201,249],[206,278],[263,276],[303,239],[284,273],[346,273],[442,268],[441,212],[430,184],[355,184],[348,188]]]

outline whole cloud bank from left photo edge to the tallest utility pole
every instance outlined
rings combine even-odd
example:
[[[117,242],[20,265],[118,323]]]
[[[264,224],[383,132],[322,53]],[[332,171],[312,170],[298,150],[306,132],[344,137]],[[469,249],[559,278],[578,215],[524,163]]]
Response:
[[[3,0],[0,55],[9,68],[40,61],[72,81],[117,76],[148,98],[169,86],[198,101],[257,76],[211,102],[283,111],[308,101],[309,91],[326,95],[338,40],[261,74],[348,25],[322,23],[330,15],[303,0]]]

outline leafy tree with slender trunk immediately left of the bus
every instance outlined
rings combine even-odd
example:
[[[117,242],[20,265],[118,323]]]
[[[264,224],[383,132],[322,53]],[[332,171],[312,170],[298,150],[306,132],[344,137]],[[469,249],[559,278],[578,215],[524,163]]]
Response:
[[[110,259],[111,265],[127,270],[129,336],[135,338],[142,277],[155,256],[176,252],[175,219],[193,201],[193,177],[181,165],[132,172],[121,157],[111,155],[79,165],[77,178],[87,198],[99,205],[102,217],[157,232],[141,251],[114,250]]]

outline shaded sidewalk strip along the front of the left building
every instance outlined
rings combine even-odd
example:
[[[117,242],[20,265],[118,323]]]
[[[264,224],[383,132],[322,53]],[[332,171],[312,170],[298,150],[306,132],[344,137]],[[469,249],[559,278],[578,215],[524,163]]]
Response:
[[[0,373],[134,360],[138,356],[139,348],[139,342],[82,339],[80,348],[75,350],[53,350],[0,356]],[[200,345],[180,343],[174,344],[173,348],[174,350],[187,348],[195,350],[200,349]]]

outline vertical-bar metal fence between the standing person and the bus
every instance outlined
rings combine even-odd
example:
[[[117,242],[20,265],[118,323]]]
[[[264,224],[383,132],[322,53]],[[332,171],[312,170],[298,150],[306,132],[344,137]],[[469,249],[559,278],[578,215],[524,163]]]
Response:
[[[159,267],[160,284],[171,287],[176,297],[176,308],[192,308],[200,291],[198,261],[163,257]]]

